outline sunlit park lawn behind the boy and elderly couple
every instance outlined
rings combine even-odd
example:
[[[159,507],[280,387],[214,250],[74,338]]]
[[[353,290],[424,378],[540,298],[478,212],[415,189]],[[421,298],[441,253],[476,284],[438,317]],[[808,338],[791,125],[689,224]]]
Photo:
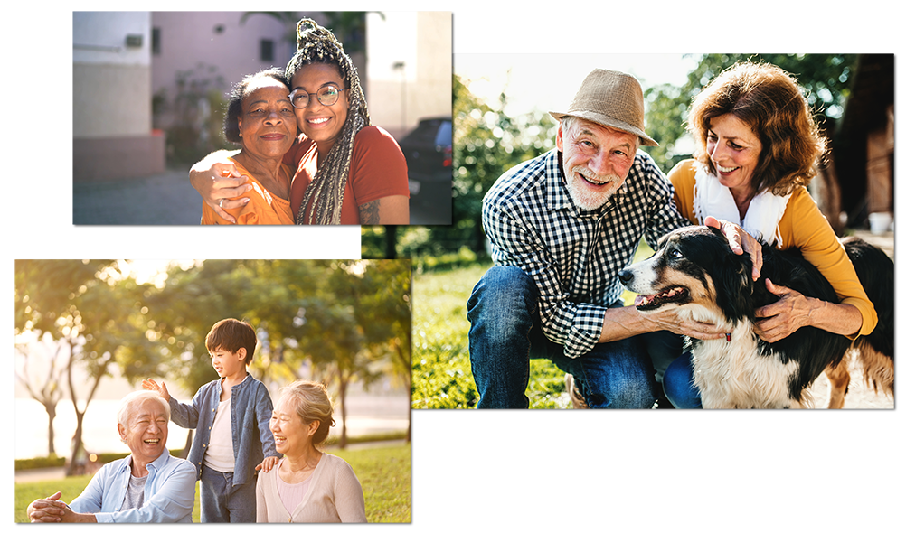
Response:
[[[408,523],[411,521],[411,446],[392,444],[356,450],[328,449],[349,462],[361,482],[365,495],[365,516],[369,522]],[[15,521],[27,522],[25,509],[39,498],[46,498],[57,490],[63,492],[63,501],[71,501],[82,493],[92,476],[75,476],[63,480],[36,481],[15,484]],[[192,521],[199,522],[201,507],[198,504],[198,484],[195,490],[195,509]]]

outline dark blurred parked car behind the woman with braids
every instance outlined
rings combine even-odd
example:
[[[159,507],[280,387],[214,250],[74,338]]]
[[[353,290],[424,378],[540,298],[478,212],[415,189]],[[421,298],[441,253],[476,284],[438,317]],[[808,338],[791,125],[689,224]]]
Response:
[[[400,148],[409,167],[410,204],[425,208],[430,219],[420,224],[451,224],[453,119],[419,119],[419,126],[400,140]]]

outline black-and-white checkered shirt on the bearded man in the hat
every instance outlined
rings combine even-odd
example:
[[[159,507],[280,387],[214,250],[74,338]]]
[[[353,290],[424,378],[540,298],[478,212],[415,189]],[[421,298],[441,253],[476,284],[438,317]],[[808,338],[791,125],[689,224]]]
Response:
[[[641,237],[653,245],[689,225],[670,182],[641,151],[622,187],[593,211],[573,204],[554,149],[500,176],[481,214],[495,264],[535,280],[541,328],[568,357],[588,353],[601,338],[605,310],[622,297],[617,273]]]

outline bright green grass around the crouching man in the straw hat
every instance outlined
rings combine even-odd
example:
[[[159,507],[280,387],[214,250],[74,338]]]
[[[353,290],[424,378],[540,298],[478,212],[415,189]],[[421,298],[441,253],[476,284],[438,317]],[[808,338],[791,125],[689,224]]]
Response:
[[[636,261],[651,256],[644,242]],[[466,302],[489,263],[453,271],[415,273],[412,280],[412,408],[473,408],[478,394],[468,357]],[[632,303],[635,295],[623,293]],[[546,359],[533,359],[525,395],[534,409],[570,406],[564,373]]]

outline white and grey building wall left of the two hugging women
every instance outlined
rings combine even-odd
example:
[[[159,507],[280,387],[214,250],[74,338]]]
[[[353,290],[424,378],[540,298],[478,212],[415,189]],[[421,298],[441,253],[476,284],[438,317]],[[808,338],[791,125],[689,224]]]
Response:
[[[165,168],[151,131],[150,14],[72,14],[72,176],[149,176]]]

